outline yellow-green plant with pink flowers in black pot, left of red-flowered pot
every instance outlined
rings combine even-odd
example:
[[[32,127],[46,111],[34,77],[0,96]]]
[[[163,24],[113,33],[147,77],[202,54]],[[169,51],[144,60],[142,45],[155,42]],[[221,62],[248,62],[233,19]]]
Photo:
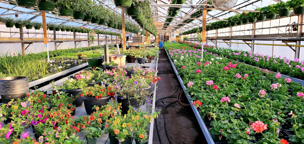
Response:
[[[83,103],[83,99],[79,97],[79,93],[82,91],[82,88],[88,86],[84,79],[84,75],[79,75],[76,80],[73,78],[69,78],[66,79],[60,87],[61,91],[67,93],[69,96],[75,97],[74,104],[76,105],[76,107],[81,106]]]

